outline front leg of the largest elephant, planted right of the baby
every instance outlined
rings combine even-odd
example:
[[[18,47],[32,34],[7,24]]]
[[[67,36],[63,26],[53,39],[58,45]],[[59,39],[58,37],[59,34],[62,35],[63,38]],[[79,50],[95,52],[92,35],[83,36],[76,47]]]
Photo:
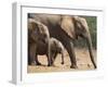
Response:
[[[75,54],[75,49],[73,49],[73,44],[70,40],[65,41],[65,48],[67,52],[69,53],[70,57],[70,69],[78,69],[77,66],[77,61],[76,61],[76,54]]]

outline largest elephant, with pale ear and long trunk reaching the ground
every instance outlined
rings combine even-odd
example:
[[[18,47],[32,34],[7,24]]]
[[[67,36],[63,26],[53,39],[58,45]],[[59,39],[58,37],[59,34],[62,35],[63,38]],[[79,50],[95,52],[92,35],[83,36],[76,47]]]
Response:
[[[77,69],[73,40],[78,39],[79,36],[84,38],[89,47],[91,61],[94,67],[96,69],[92,51],[91,35],[85,18],[80,16],[35,14],[35,13],[29,13],[28,16],[46,25],[50,32],[50,36],[62,41],[67,52],[69,53],[71,62],[70,67],[72,69]]]

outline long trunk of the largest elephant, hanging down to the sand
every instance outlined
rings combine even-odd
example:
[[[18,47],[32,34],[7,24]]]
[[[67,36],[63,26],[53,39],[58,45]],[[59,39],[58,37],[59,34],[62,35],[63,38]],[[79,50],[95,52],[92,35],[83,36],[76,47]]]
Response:
[[[91,40],[90,33],[86,36],[86,45],[89,47],[89,52],[90,52],[91,61],[92,61],[94,67],[96,69],[96,64],[95,64],[94,57],[93,57],[93,51],[92,51],[93,49],[92,49],[92,40]]]

